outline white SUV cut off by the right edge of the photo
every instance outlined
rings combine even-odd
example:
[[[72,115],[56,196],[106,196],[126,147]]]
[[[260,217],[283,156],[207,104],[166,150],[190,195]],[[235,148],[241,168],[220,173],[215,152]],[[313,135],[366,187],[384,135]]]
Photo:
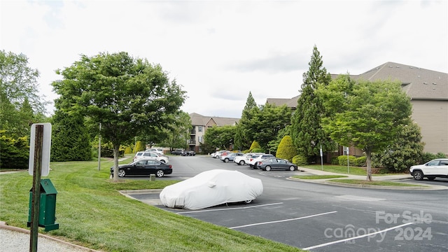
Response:
[[[436,177],[448,178],[448,158],[430,160],[424,165],[413,165],[409,172],[415,180],[428,178],[434,180]]]

